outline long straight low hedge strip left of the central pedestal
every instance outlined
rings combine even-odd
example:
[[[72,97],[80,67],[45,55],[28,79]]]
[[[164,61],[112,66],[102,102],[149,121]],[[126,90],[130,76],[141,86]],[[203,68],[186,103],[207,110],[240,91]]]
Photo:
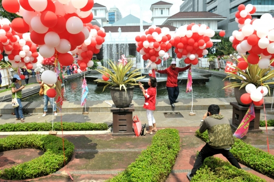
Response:
[[[61,131],[61,122],[54,122],[53,129]],[[107,130],[106,123],[71,123],[63,122],[63,131],[92,131],[92,130]],[[52,123],[6,123],[0,125],[0,131],[50,131]]]

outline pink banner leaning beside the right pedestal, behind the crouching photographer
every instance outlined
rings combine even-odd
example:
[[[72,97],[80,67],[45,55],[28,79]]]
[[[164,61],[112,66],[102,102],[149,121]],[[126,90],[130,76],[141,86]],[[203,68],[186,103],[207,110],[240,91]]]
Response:
[[[237,130],[233,134],[233,136],[237,138],[242,138],[248,132],[249,122],[251,122],[255,118],[254,104],[253,102],[250,104],[248,111],[243,118],[242,122],[239,124]]]

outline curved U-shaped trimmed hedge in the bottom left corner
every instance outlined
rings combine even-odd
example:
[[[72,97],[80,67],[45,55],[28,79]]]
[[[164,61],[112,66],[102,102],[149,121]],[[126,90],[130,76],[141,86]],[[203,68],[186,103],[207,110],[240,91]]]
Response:
[[[16,149],[38,149],[45,152],[31,161],[0,170],[0,178],[24,180],[56,172],[64,166],[62,138],[53,135],[12,135],[0,138],[0,152]],[[64,139],[65,163],[74,153],[74,144]]]

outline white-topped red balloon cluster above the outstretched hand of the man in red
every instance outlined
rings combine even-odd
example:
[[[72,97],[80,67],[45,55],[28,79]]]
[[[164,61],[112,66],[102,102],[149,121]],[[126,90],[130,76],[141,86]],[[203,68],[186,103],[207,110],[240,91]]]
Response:
[[[215,31],[207,25],[191,23],[179,27],[170,43],[176,48],[175,53],[179,59],[186,56],[186,64],[196,65],[199,57],[208,54],[206,48],[213,46],[210,38],[214,35]]]

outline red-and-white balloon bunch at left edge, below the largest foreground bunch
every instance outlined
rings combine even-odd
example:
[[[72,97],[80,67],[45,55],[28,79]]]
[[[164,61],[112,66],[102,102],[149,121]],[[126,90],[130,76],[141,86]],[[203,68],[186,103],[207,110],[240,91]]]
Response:
[[[29,33],[17,33],[10,27],[10,24],[11,22],[7,18],[0,19],[1,53],[5,51],[12,67],[26,66],[31,69],[39,56],[37,46],[31,42]],[[0,60],[2,59],[3,55],[0,56]]]

